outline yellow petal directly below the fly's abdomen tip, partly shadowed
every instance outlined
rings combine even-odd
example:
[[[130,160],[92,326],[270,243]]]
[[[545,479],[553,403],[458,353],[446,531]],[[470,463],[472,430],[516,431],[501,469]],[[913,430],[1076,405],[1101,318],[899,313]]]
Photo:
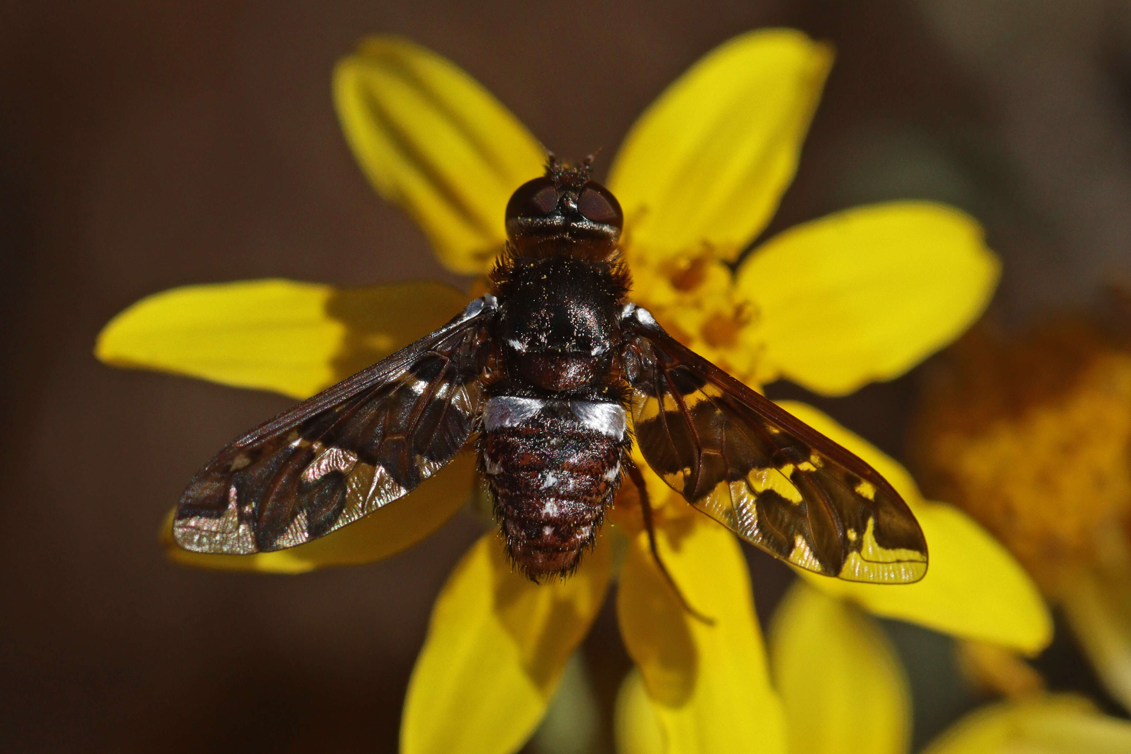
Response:
[[[515,573],[484,535],[432,610],[400,726],[403,754],[510,754],[533,733],[596,616],[612,557],[604,537],[566,581]]]

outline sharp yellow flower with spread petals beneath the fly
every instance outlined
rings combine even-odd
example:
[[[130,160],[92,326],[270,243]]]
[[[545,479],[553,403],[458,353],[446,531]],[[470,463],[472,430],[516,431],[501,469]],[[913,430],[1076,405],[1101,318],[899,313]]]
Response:
[[[725,43],[641,115],[608,185],[625,211],[633,296],[665,327],[751,384],[786,376],[843,395],[901,374],[960,333],[993,291],[998,262],[973,219],[930,202],[846,210],[741,257],[793,176],[830,63],[830,49],[800,32],[759,31]],[[450,269],[486,271],[506,237],[507,199],[542,172],[537,140],[467,73],[399,38],[364,41],[338,64],[334,93],[346,138],[381,196],[417,220]],[[97,354],[305,397],[424,335],[467,298],[438,285],[191,286],[120,314]],[[1047,614],[1024,571],[977,525],[923,500],[901,467],[815,409],[788,408],[887,476],[931,548],[930,571],[913,586],[814,584],[877,614],[1020,651],[1047,641]],[[313,543],[252,556],[171,554],[286,572],[375,560],[437,528],[470,483],[465,456],[411,496]],[[666,751],[785,749],[737,540],[655,475],[648,484],[661,509],[661,553],[713,623],[689,616],[667,588],[630,515],[629,493],[564,582],[536,586],[515,574],[498,535],[485,535],[437,600],[405,703],[404,752],[521,746],[621,560],[622,635]],[[618,537],[623,558],[613,557]]]

